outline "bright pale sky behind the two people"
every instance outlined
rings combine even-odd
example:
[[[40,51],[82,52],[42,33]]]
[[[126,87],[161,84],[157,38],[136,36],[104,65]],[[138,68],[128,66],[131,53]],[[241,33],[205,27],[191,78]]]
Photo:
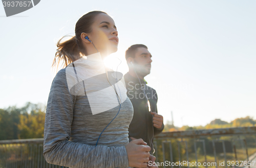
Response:
[[[76,21],[101,10],[115,21],[120,59],[144,44],[152,54],[148,86],[164,123],[205,126],[215,118],[256,119],[256,1],[40,1],[6,17],[0,5],[0,108],[47,104],[57,41],[75,35]],[[116,65],[116,66],[117,66]]]

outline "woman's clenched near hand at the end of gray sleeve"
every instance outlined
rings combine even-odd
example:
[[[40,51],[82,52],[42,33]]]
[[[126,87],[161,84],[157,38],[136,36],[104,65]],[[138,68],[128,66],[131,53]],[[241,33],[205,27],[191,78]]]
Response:
[[[125,145],[128,155],[129,166],[131,167],[147,167],[147,162],[150,161],[151,148],[146,145],[143,139],[136,139]]]

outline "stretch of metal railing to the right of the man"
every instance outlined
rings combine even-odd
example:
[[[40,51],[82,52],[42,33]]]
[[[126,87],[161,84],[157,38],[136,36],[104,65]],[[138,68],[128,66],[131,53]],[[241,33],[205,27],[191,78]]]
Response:
[[[172,168],[256,167],[255,137],[256,127],[163,132],[154,138],[156,162],[163,163],[160,167]],[[201,149],[201,152],[198,149]],[[168,164],[165,165],[165,161]],[[186,163],[175,164],[183,161]],[[187,162],[194,164],[189,165]],[[196,162],[198,164],[195,164]]]

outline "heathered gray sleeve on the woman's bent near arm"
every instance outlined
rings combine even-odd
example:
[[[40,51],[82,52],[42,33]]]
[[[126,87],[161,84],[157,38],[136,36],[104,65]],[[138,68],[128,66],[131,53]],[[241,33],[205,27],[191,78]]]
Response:
[[[68,167],[129,167],[124,146],[89,146],[69,141],[76,96],[70,94],[66,70],[56,74],[47,102],[44,157],[48,163]]]

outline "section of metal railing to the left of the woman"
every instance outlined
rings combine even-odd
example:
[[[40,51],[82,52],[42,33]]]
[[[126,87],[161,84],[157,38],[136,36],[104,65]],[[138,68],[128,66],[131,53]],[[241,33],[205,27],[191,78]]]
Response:
[[[0,140],[0,168],[61,168],[46,162],[43,144],[44,138]]]

